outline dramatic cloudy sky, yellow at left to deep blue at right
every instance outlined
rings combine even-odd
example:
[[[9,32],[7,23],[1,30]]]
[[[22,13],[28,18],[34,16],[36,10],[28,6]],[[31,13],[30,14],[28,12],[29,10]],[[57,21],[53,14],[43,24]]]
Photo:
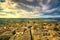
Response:
[[[0,0],[0,18],[60,17],[60,0]]]

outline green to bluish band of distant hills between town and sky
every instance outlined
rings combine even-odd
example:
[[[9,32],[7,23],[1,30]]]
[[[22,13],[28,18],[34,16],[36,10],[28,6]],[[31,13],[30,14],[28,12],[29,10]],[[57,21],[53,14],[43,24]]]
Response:
[[[0,18],[0,23],[13,23],[13,22],[21,22],[28,20],[40,20],[40,21],[60,21],[60,18]]]

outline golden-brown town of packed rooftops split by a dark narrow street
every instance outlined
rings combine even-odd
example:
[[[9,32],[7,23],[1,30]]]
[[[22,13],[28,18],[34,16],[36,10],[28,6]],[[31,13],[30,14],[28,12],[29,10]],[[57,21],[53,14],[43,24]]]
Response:
[[[0,24],[0,40],[60,40],[60,22]]]

